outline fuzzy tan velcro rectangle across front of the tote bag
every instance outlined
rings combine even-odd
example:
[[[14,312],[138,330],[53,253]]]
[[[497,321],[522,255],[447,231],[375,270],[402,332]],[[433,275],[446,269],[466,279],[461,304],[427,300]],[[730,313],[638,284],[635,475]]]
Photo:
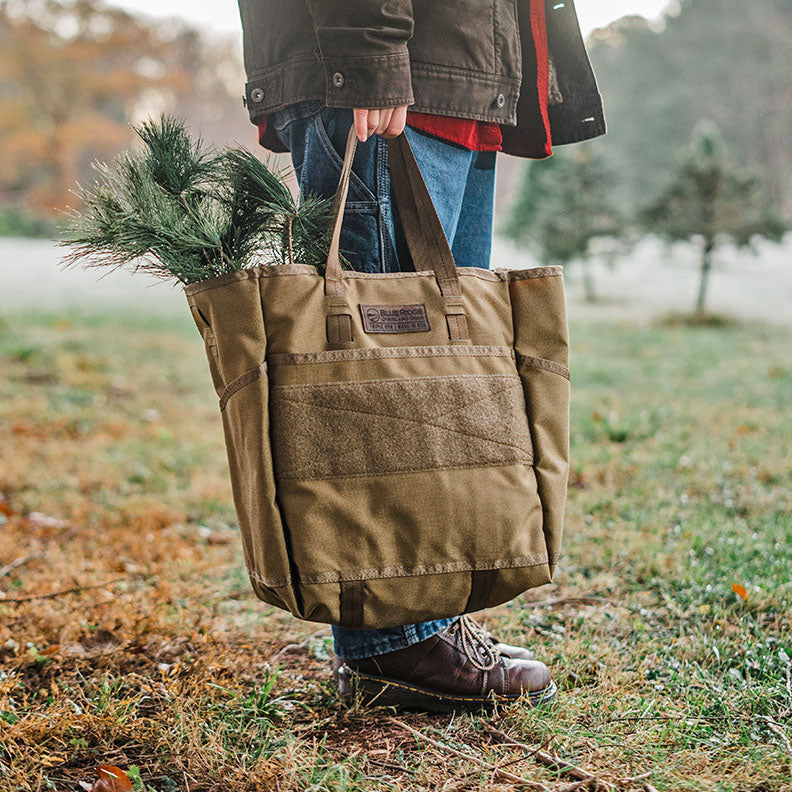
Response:
[[[274,385],[276,478],[530,464],[516,375]]]

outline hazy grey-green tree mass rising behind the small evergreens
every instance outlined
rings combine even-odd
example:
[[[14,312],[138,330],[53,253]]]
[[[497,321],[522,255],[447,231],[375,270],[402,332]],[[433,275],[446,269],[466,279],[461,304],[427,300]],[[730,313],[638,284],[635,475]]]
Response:
[[[595,30],[589,53],[608,134],[594,141],[629,209],[656,197],[674,152],[711,119],[729,150],[756,166],[792,218],[792,3],[685,0],[659,25],[628,16]]]

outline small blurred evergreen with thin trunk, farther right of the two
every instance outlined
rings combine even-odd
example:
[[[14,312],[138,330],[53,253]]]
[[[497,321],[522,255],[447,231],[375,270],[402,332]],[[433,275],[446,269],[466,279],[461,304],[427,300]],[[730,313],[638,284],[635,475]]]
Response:
[[[647,231],[670,242],[701,246],[696,315],[704,314],[712,259],[719,244],[751,249],[752,241],[778,242],[787,230],[754,170],[730,159],[714,124],[700,123],[691,145],[660,197],[639,215]]]

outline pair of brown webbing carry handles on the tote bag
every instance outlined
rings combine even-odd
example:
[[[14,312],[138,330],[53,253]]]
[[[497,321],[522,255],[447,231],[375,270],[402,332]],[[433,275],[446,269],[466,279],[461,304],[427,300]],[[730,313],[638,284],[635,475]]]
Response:
[[[339,243],[356,148],[357,136],[353,126],[347,137],[344,164],[341,168],[338,190],[333,199],[333,235],[325,267],[325,294],[329,298],[343,299],[345,296]],[[388,141],[388,155],[396,205],[415,267],[434,271],[445,303],[449,338],[453,341],[467,340],[467,316],[454,256],[404,133]],[[341,307],[339,302],[333,305],[336,308]]]

